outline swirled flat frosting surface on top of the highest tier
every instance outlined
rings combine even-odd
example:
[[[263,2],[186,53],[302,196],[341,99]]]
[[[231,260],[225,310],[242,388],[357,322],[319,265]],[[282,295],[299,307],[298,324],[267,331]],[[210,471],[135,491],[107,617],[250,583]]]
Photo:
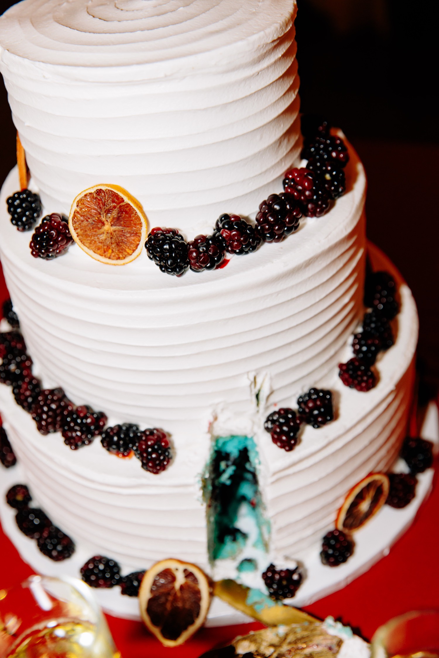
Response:
[[[0,18],[3,49],[67,66],[129,66],[251,50],[292,26],[296,0],[22,0]],[[261,56],[263,53],[261,53]],[[213,61],[212,61],[213,60]]]

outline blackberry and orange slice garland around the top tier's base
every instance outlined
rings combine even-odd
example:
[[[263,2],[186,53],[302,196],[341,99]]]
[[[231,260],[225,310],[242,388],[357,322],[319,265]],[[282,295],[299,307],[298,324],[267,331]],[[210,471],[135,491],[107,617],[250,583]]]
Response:
[[[175,228],[155,226],[145,241],[146,217],[137,199],[119,186],[99,185],[78,194],[69,219],[59,213],[43,218],[32,235],[32,256],[51,260],[76,241],[98,261],[124,265],[140,255],[144,242],[148,258],[162,272],[182,276],[188,269],[221,268],[228,262],[224,261],[226,253],[243,255],[256,251],[263,242],[280,242],[296,232],[302,216],[324,215],[346,191],[344,167],[349,155],[343,139],[330,134],[326,119],[311,114],[302,116],[301,131],[301,157],[307,165],[284,174],[284,191],[259,204],[255,226],[239,215],[224,214],[211,235],[186,242]],[[18,146],[17,162],[20,181],[27,180],[27,172],[25,176],[22,171],[26,162]],[[39,195],[27,188],[11,195],[7,207],[19,231],[31,230],[42,209]],[[102,231],[104,224],[106,230]]]

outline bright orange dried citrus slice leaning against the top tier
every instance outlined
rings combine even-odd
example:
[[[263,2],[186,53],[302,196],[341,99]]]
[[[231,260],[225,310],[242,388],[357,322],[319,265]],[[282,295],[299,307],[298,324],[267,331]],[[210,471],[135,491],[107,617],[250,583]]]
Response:
[[[68,227],[89,256],[108,265],[134,261],[146,240],[147,220],[137,199],[118,185],[95,185],[72,203]]]

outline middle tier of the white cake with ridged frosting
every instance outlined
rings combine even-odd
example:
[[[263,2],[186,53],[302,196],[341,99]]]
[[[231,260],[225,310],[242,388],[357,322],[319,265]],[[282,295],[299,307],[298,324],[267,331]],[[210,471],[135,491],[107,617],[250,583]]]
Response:
[[[77,245],[34,259],[4,210],[3,270],[45,385],[116,422],[176,436],[205,432],[223,410],[248,415],[255,375],[267,374],[272,401],[290,405],[336,367],[361,314],[365,176],[352,149],[347,174],[348,192],[327,215],[220,270],[181,278],[145,250],[120,268]]]

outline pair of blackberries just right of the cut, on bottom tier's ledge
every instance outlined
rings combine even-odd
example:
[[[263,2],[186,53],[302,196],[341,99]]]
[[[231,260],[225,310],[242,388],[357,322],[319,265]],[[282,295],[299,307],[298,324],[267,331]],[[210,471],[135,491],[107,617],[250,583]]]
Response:
[[[297,411],[289,407],[272,411],[264,422],[265,431],[271,434],[272,442],[287,452],[296,447],[304,422],[317,429],[334,419],[330,391],[311,388],[297,398],[297,407]]]

